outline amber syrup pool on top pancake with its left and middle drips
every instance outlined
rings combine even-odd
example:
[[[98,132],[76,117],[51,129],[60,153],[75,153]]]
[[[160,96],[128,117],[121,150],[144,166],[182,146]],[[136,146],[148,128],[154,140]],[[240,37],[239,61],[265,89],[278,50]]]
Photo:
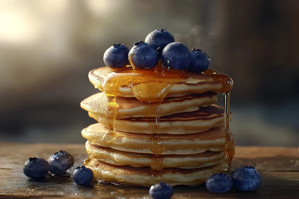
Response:
[[[117,115],[118,104],[115,97],[119,88],[127,86],[133,95],[144,102],[143,114],[145,117],[149,113],[156,115],[155,127],[159,127],[159,104],[167,96],[169,89],[177,82],[184,82],[188,77],[182,71],[164,70],[161,64],[152,70],[125,67],[111,71],[102,89],[108,99],[108,106],[105,111],[105,118],[109,127],[109,132],[103,136],[104,143],[111,143],[115,139],[114,122]]]

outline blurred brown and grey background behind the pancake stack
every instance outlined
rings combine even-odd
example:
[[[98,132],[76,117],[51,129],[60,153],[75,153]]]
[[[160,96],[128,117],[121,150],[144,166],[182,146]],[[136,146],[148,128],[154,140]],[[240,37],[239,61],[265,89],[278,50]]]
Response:
[[[237,145],[299,146],[299,1],[0,0],[0,141],[84,143],[112,44],[165,28],[234,80]],[[218,97],[218,104],[223,104]]]

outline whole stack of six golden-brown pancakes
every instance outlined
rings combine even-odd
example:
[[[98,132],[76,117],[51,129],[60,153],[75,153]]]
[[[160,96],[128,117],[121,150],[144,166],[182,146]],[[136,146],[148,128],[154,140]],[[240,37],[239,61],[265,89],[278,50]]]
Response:
[[[89,79],[103,91],[108,73],[107,67],[98,68],[89,73]],[[160,181],[172,186],[197,185],[209,175],[225,171],[224,109],[215,105],[222,84],[201,75],[174,84],[158,107],[159,115],[145,117],[144,103],[129,87],[118,88],[115,134],[108,143],[103,141],[109,131],[105,93],[83,100],[81,107],[98,121],[82,131],[88,140],[84,164],[93,170],[94,177],[141,186]]]

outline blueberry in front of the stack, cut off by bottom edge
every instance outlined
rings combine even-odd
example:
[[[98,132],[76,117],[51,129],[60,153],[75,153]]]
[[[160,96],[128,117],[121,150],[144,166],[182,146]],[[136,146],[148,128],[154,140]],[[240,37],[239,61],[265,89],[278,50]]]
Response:
[[[169,199],[173,195],[173,188],[167,184],[160,182],[149,189],[149,196],[154,199]]]

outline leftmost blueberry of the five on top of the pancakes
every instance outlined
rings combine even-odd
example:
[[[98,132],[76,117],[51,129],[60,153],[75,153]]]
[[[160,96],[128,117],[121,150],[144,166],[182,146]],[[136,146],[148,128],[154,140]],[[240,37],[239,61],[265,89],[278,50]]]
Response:
[[[123,44],[113,44],[104,53],[104,62],[109,68],[123,68],[128,63],[129,48]]]

